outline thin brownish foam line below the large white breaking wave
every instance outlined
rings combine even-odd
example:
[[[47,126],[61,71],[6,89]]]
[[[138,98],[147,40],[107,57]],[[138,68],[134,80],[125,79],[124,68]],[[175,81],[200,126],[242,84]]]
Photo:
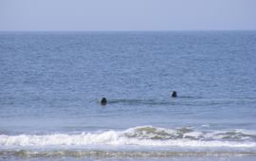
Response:
[[[256,152],[135,152],[135,151],[2,151],[0,156],[16,157],[175,157],[175,156],[255,156]],[[1,157],[0,157],[1,158]]]

